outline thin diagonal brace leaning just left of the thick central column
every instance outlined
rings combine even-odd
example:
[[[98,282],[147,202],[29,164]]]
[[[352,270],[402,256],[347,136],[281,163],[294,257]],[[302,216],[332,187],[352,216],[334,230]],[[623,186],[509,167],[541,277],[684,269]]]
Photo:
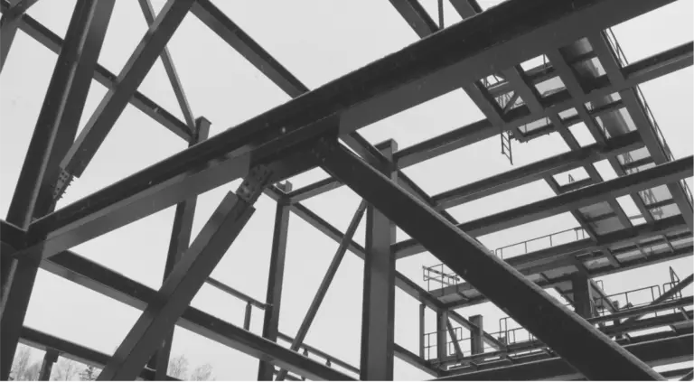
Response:
[[[342,258],[344,258],[344,254],[347,253],[347,247],[349,243],[352,241],[352,238],[354,237],[354,232],[359,227],[359,223],[361,222],[361,218],[364,216],[365,210],[366,202],[362,201],[360,206],[357,208],[357,211],[354,213],[352,221],[350,221],[350,225],[344,232],[344,237],[342,237],[342,240],[340,240],[340,245],[337,247],[337,251],[333,256],[333,260],[330,262],[328,270],[325,271],[323,281],[318,287],[318,291],[314,295],[314,300],[308,307],[308,312],[306,312],[304,316],[304,321],[301,321],[299,330],[296,331],[296,335],[294,337],[294,340],[292,340],[292,344],[289,346],[289,349],[296,351],[304,343],[306,334],[308,334],[308,330],[311,328],[311,324],[314,322],[315,315],[318,313],[318,309],[321,307],[321,303],[323,303],[325,294],[328,293],[328,288],[330,287],[330,284],[333,283],[333,278],[337,274],[337,270],[340,267],[340,264],[342,264]],[[285,377],[286,370],[279,370],[275,381],[282,382]]]

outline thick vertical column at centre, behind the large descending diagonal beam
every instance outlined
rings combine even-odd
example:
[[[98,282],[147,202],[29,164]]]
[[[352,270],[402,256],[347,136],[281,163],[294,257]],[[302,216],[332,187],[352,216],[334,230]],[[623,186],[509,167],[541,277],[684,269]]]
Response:
[[[381,149],[392,160],[398,144],[390,140]],[[397,181],[395,171],[385,175]],[[366,256],[361,311],[361,380],[393,380],[395,320],[395,224],[380,210],[366,209]]]

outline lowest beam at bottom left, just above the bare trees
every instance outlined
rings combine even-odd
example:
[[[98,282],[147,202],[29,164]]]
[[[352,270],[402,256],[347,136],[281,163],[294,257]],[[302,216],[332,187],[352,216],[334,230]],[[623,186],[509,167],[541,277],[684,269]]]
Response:
[[[20,341],[24,345],[44,351],[48,351],[50,349],[58,350],[60,352],[60,356],[64,359],[72,359],[96,368],[103,368],[104,365],[108,363],[108,359],[111,359],[111,356],[108,354],[86,348],[70,342],[69,340],[62,340],[58,337],[52,336],[51,334],[46,334],[42,331],[37,331],[26,326],[22,328],[20,336]],[[151,368],[144,368],[142,372],[140,372],[140,377],[143,377],[148,381],[154,381],[155,370]],[[181,379],[174,377],[166,377],[165,380],[168,382],[182,382]]]

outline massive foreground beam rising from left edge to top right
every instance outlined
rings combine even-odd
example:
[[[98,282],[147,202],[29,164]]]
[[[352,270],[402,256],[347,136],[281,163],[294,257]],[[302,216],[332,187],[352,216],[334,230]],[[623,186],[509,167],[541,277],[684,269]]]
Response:
[[[35,221],[33,227],[47,235],[44,249],[50,256],[238,179],[250,165],[285,156],[285,148],[334,133],[336,128],[341,135],[349,134],[480,79],[489,74],[492,62],[510,67],[576,41],[588,26],[599,30],[669,3],[504,3],[174,154]],[[314,166],[304,164],[303,170]]]

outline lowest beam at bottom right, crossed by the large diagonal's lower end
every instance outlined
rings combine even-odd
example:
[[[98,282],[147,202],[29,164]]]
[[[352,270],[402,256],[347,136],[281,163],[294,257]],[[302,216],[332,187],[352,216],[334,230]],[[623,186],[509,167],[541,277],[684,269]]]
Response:
[[[652,367],[684,362],[691,359],[691,349],[694,349],[694,334],[625,345],[624,349]],[[458,376],[442,377],[432,379],[430,382],[524,382],[544,378],[551,378],[552,381],[559,382],[572,381],[581,377],[583,376],[571,368],[564,359],[553,358],[469,372]]]

